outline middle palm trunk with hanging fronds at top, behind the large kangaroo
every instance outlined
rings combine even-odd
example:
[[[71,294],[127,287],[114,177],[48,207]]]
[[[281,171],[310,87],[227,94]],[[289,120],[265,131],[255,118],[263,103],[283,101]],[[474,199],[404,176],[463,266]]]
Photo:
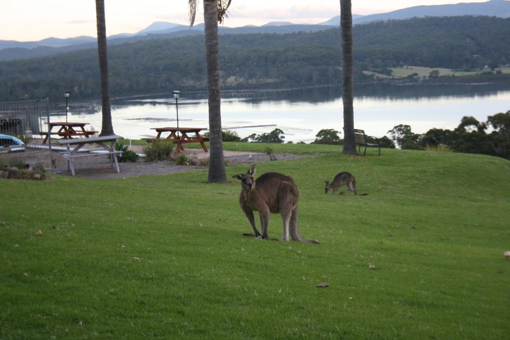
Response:
[[[205,24],[207,96],[209,102],[210,159],[208,182],[226,182],[221,140],[221,77],[218,49],[217,0],[203,0]]]

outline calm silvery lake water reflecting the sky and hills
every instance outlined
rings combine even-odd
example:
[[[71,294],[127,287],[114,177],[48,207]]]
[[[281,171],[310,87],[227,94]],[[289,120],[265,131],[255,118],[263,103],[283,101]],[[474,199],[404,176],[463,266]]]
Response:
[[[69,121],[101,128],[100,102],[69,100]],[[354,127],[368,135],[384,136],[398,124],[414,133],[436,127],[453,129],[463,116],[486,121],[487,116],[510,110],[510,84],[407,85],[377,84],[354,89]],[[65,103],[50,112],[52,120],[65,120]],[[223,91],[222,126],[240,137],[285,132],[286,141],[311,142],[320,129],[343,131],[342,94],[339,87],[290,90]],[[112,100],[112,122],[117,135],[140,139],[155,136],[153,127],[176,125],[175,99],[165,95]],[[208,127],[207,94],[182,92],[179,126]],[[264,126],[265,125],[265,126]],[[342,136],[342,135],[341,135]]]

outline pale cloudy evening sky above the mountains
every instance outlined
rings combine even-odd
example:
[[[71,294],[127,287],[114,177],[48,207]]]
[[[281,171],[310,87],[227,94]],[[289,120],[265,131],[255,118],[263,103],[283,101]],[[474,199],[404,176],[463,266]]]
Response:
[[[352,0],[352,14],[369,15],[420,5],[481,3],[487,0]],[[202,2],[195,23],[203,22]],[[105,0],[107,35],[136,33],[152,22],[188,24],[187,0]],[[339,0],[233,0],[226,27],[270,21],[320,23],[340,14]],[[0,40],[96,36],[94,0],[3,0]]]

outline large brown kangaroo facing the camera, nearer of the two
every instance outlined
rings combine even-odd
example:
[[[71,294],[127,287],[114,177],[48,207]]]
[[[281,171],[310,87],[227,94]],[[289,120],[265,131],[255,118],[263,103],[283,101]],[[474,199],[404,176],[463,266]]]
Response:
[[[301,238],[297,228],[297,201],[299,192],[292,177],[277,172],[266,172],[257,180],[253,175],[257,165],[253,165],[246,174],[237,174],[233,178],[241,180],[241,194],[239,205],[251,224],[255,234],[246,236],[262,237],[268,239],[270,213],[282,215],[284,223],[283,241],[292,241],[319,244],[317,241]],[[260,229],[257,230],[253,212],[259,212]]]

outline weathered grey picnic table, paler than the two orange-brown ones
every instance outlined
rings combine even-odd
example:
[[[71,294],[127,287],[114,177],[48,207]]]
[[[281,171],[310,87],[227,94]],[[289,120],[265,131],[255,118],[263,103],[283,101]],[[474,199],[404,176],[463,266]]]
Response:
[[[74,166],[72,165],[72,160],[77,157],[87,156],[111,155],[110,163],[112,168],[113,163],[115,162],[117,173],[120,172],[119,164],[117,162],[117,154],[122,154],[122,151],[115,150],[115,142],[117,142],[119,139],[122,139],[122,137],[112,135],[91,138],[64,139],[58,140],[57,143],[66,146],[67,151],[62,152],[62,156],[67,160],[67,171],[69,171],[69,168],[71,168],[71,174],[74,176]],[[110,145],[105,144],[108,142],[110,143]],[[99,145],[102,149],[82,150],[82,147],[85,146],[86,144],[96,144]],[[75,145],[75,147],[71,150],[70,145]]]

